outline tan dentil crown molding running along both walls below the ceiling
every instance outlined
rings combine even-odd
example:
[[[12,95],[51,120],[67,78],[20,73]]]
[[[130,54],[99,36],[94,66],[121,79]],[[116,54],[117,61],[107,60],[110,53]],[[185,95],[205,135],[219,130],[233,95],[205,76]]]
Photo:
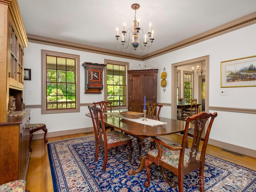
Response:
[[[232,22],[228,22],[224,25],[221,25],[219,27],[213,28],[211,30],[208,30],[206,32],[203,32],[201,34],[198,34],[196,36],[193,36],[191,38],[188,38],[186,40],[180,41],[178,43],[172,44],[170,46],[167,46],[165,48],[162,48],[160,50],[157,50],[155,52],[152,52],[150,54],[146,54],[144,56],[138,56],[135,54],[128,54],[124,52],[117,52],[113,50],[108,50],[108,49],[103,49],[103,48],[98,48],[98,47],[93,47],[93,46],[87,46],[83,44],[77,44],[77,43],[72,43],[72,42],[67,42],[67,41],[62,41],[62,40],[57,40],[57,39],[52,39],[52,38],[46,38],[42,36],[36,36],[32,34],[27,34],[28,41],[29,42],[34,42],[34,43],[39,43],[39,44],[46,44],[46,45],[51,45],[51,46],[58,46],[58,47],[63,47],[63,48],[70,48],[74,50],[81,50],[85,52],[92,52],[92,53],[97,53],[97,54],[104,54],[104,55],[109,55],[109,56],[115,56],[115,57],[120,57],[120,58],[128,58],[128,59],[133,59],[133,60],[148,60],[163,54],[167,54],[169,52],[208,40],[210,38],[214,38],[216,36],[220,36],[225,33],[232,32],[234,30],[238,30],[240,28],[252,25],[256,23],[256,12],[249,14],[247,16],[244,16],[242,18],[239,18],[237,20],[234,20]]]

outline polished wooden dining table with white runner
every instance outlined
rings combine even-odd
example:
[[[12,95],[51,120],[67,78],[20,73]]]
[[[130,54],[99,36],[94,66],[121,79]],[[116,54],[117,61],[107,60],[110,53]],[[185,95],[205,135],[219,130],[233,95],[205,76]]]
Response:
[[[175,134],[184,131],[186,121],[172,118],[148,115],[136,119],[125,118],[118,112],[102,113],[104,124],[112,126],[121,132],[134,136],[139,146],[138,160],[141,160],[141,148],[145,145],[144,139],[161,135]],[[86,116],[91,117],[90,113]],[[143,119],[146,120],[143,120]],[[192,127],[191,127],[192,128]],[[156,148],[156,143],[151,142],[150,149]]]

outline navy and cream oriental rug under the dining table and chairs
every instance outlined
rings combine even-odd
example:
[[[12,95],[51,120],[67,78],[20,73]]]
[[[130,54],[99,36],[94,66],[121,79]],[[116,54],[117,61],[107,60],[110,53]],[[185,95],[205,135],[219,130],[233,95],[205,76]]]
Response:
[[[166,143],[169,140],[163,139]],[[150,140],[145,140],[150,146]],[[116,154],[115,148],[108,150],[107,168],[102,172],[104,161],[103,148],[99,147],[98,161],[95,158],[95,137],[86,136],[47,144],[48,156],[52,172],[54,192],[178,192],[178,178],[172,172],[166,171],[168,178],[176,182],[171,188],[161,175],[160,168],[150,165],[150,187],[145,188],[147,180],[145,168],[134,176],[128,175],[128,170],[140,166],[138,144],[133,138],[134,165],[130,165],[129,152],[126,147],[120,147]],[[142,155],[148,148],[142,147]],[[255,192],[256,171],[206,154],[204,169],[204,184],[206,192]],[[198,192],[198,170],[184,177],[184,191]]]

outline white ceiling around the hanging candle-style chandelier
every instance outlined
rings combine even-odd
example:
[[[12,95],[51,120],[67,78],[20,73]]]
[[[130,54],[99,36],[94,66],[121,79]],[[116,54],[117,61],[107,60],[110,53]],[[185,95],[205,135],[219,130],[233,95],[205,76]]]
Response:
[[[116,42],[123,22],[132,26],[134,10],[154,43],[142,50]],[[256,11],[256,0],[18,0],[27,34],[144,56]]]

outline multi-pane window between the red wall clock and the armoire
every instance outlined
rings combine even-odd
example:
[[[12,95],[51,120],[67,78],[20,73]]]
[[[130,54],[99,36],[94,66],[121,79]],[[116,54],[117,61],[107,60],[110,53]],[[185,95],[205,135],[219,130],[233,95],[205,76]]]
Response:
[[[128,63],[105,60],[106,66],[106,100],[112,106],[126,106],[126,68]]]

